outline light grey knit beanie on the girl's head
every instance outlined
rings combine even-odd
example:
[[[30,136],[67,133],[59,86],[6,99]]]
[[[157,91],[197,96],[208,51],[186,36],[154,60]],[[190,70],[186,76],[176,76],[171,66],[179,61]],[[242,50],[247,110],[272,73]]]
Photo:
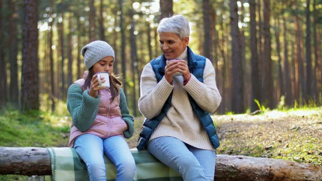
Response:
[[[112,56],[115,59],[114,50],[105,41],[93,41],[82,48],[82,55],[86,67],[91,68],[96,62],[104,57]]]

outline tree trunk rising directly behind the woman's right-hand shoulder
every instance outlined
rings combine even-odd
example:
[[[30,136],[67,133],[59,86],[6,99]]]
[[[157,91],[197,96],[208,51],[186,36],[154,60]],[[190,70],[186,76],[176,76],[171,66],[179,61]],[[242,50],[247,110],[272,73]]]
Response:
[[[204,41],[203,41],[203,55],[213,62],[212,57],[212,37],[210,34],[210,4],[209,0],[202,0],[202,15],[203,15],[203,30],[204,30]]]

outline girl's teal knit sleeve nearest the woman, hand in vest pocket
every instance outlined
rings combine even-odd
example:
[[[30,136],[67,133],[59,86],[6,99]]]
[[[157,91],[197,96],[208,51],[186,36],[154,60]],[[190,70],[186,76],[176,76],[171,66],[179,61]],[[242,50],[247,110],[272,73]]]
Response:
[[[122,88],[120,88],[120,109],[121,109],[122,120],[125,121],[128,127],[128,129],[123,132],[123,135],[125,138],[128,139],[128,138],[131,138],[134,133],[134,119],[130,115],[129,108],[127,107],[125,95]]]

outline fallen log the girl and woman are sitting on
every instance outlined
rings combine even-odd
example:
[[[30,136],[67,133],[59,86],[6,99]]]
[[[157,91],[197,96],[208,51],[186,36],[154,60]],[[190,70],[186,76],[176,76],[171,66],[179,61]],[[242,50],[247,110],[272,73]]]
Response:
[[[48,150],[0,147],[0,174],[51,175]],[[322,181],[322,167],[281,159],[217,155],[215,180]]]

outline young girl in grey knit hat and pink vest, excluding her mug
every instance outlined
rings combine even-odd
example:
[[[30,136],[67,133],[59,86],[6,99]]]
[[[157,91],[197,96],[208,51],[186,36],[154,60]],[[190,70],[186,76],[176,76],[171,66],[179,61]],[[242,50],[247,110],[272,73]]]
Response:
[[[68,88],[69,146],[85,161],[90,180],[106,180],[103,154],[116,165],[116,180],[133,180],[135,162],[125,138],[133,135],[134,120],[122,83],[113,75],[114,50],[104,41],[94,41],[83,47],[82,55],[89,70]],[[96,73],[102,71],[110,73],[110,88],[99,86]]]

